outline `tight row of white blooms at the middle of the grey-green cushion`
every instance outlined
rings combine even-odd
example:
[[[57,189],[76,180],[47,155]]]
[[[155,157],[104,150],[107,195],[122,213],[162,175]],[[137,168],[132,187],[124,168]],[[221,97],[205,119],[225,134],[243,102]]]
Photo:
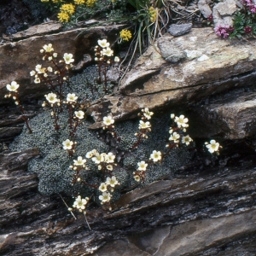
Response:
[[[113,170],[114,165],[114,159],[115,155],[112,152],[109,152],[108,154],[102,153],[96,151],[96,149],[91,150],[90,152],[87,152],[85,155],[86,158],[91,158],[91,160],[98,165],[98,170],[102,170],[102,168],[105,168],[108,171]]]

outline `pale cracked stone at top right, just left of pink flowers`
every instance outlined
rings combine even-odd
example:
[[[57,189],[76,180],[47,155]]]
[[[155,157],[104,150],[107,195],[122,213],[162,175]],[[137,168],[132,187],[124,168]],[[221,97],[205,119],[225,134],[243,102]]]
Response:
[[[232,15],[234,15],[236,9],[235,0],[224,0],[224,2],[217,3],[212,9],[214,26],[233,26]]]

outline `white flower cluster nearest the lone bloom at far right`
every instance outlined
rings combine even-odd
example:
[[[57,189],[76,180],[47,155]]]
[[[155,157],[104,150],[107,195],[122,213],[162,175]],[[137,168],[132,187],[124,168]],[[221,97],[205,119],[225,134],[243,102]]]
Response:
[[[169,130],[169,133],[171,134],[171,136],[169,137],[170,143],[176,143],[176,146],[178,147],[180,139],[182,139],[181,142],[189,146],[189,144],[193,142],[192,138],[189,137],[189,135],[183,135],[183,132],[186,132],[186,128],[189,127],[189,119],[185,118],[183,114],[177,117],[174,113],[171,114],[171,119],[173,119],[177,127],[175,127],[175,125],[172,125]],[[170,147],[170,144],[167,144],[166,147]]]

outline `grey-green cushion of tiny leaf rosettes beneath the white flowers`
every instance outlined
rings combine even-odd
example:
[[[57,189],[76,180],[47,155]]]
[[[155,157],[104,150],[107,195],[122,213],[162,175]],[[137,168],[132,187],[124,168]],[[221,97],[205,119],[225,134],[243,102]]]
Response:
[[[71,79],[65,93],[75,93],[82,100],[84,97],[90,100],[102,96],[102,84],[94,89],[96,78],[96,68],[90,67],[73,79]],[[109,85],[110,86],[110,85]],[[137,163],[141,160],[148,160],[153,150],[164,152],[166,139],[169,137],[170,117],[162,116],[150,120],[152,131],[148,133],[148,139],[143,140],[137,149],[132,149],[131,145],[136,142],[134,134],[138,131],[138,120],[125,121],[115,124],[115,131],[121,138],[119,143],[105,143],[108,136],[99,136],[96,131],[87,129],[90,121],[84,120],[78,126],[75,141],[76,152],[70,157],[66,150],[62,148],[62,142],[68,137],[67,128],[67,109],[59,114],[60,130],[56,132],[53,128],[53,119],[50,116],[50,110],[45,110],[30,120],[32,134],[28,134],[24,127],[20,137],[16,137],[15,142],[10,145],[10,149],[17,151],[25,148],[37,147],[40,155],[32,159],[28,164],[29,172],[37,173],[39,179],[38,190],[43,195],[52,195],[64,192],[67,195],[90,196],[96,195],[96,201],[99,191],[82,186],[76,183],[72,185],[73,170],[69,166],[73,165],[73,160],[78,156],[85,158],[85,154],[92,149],[99,153],[113,152],[116,155],[117,166],[113,168],[113,175],[117,177],[120,186],[115,189],[112,200],[119,197],[122,189],[126,189],[134,184],[138,184],[133,178],[133,172],[137,170]],[[112,139],[113,140],[113,139]],[[107,140],[106,140],[107,141]],[[180,166],[188,163],[190,154],[187,148],[176,148],[168,154],[159,164],[148,165],[145,182],[141,185],[152,183],[160,177],[172,177],[172,173]],[[87,183],[97,184],[105,182],[102,178],[102,172],[97,170],[97,166],[89,159],[86,162],[89,170],[80,173],[80,177]],[[96,190],[96,191],[95,191]]]

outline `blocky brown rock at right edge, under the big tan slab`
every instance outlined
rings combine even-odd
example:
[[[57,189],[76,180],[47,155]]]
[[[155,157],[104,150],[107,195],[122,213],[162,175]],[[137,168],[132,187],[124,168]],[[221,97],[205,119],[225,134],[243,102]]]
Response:
[[[256,133],[256,94],[238,90],[193,108],[191,119],[201,124],[191,131],[192,137],[241,139]]]

